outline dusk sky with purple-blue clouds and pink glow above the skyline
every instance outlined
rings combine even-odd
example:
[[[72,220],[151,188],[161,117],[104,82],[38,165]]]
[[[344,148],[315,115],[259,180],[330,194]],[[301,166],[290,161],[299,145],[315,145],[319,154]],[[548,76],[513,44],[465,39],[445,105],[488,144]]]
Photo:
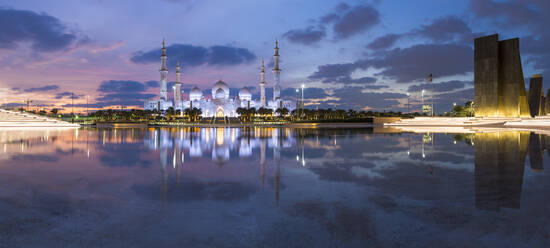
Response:
[[[159,95],[163,39],[184,97],[220,79],[258,97],[278,40],[283,98],[304,84],[309,108],[419,111],[424,89],[441,113],[473,100],[476,37],[520,38],[524,77],[550,72],[549,11],[546,0],[2,0],[0,104],[142,108]]]

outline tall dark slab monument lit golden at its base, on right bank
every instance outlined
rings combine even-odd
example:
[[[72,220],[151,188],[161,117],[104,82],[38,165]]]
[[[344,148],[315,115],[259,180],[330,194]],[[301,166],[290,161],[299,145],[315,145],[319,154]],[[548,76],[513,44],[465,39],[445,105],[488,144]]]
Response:
[[[474,41],[476,117],[528,117],[519,39],[498,40],[498,34]]]

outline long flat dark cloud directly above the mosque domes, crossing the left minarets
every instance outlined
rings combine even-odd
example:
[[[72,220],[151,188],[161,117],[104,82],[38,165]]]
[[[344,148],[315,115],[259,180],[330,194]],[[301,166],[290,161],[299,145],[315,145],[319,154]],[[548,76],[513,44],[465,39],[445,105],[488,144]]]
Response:
[[[250,50],[232,46],[202,47],[173,44],[166,47],[166,53],[169,66],[175,66],[177,61],[180,61],[183,67],[232,66],[250,63],[256,59],[256,55]],[[130,60],[137,64],[158,63],[160,48],[135,52]]]

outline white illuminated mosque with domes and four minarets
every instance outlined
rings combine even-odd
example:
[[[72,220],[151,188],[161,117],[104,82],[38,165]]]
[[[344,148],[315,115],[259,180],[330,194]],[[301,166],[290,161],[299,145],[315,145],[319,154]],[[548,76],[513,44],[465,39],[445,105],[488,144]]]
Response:
[[[164,41],[162,42],[161,49],[161,67],[160,67],[160,99],[145,101],[145,110],[160,110],[166,111],[170,107],[175,110],[185,110],[187,108],[198,108],[202,111],[202,117],[238,117],[237,108],[267,108],[275,112],[278,108],[286,108],[289,111],[295,109],[295,106],[289,100],[281,99],[281,86],[280,75],[281,69],[279,69],[279,44],[275,42],[275,54],[273,55],[273,76],[275,85],[273,86],[273,99],[267,100],[265,96],[265,87],[267,83],[265,81],[265,68],[264,61],[262,60],[261,66],[261,80],[260,80],[260,99],[252,99],[252,93],[247,87],[243,87],[239,90],[237,96],[230,96],[229,86],[223,82],[218,81],[212,87],[211,94],[203,94],[203,91],[198,87],[194,87],[189,92],[189,99],[183,99],[184,92],[181,88],[181,71],[180,65],[176,66],[176,83],[173,87],[173,99],[168,99],[167,89],[167,76],[168,69],[166,66],[166,47]],[[183,111],[182,111],[183,112]]]

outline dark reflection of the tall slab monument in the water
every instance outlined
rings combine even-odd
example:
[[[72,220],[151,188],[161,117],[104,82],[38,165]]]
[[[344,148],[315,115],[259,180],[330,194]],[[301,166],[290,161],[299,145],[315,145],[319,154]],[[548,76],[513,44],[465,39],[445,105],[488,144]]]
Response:
[[[527,150],[525,132],[475,134],[476,208],[520,208]]]

